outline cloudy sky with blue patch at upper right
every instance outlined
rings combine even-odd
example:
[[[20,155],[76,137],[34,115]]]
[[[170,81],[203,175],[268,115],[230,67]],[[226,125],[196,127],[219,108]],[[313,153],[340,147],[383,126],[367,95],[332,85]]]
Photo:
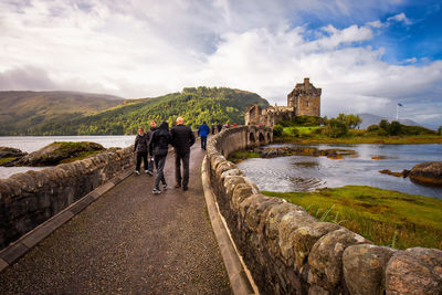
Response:
[[[442,125],[440,0],[0,0],[0,91],[125,98],[191,86],[286,105],[323,89],[322,115]]]

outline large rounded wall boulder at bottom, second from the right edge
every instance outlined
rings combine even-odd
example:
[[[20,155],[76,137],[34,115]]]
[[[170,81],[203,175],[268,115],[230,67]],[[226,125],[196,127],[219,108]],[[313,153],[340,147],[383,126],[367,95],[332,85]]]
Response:
[[[385,294],[387,263],[397,250],[377,245],[351,245],[344,251],[344,277],[351,294]]]

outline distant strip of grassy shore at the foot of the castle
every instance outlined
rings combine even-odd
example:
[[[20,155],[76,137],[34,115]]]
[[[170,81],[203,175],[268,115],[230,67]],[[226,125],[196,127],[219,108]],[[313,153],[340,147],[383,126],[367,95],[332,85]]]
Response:
[[[386,144],[386,145],[404,145],[404,144],[442,144],[440,135],[408,135],[408,136],[378,136],[367,133],[365,129],[350,129],[347,135],[338,138],[332,138],[318,133],[324,127],[312,126],[291,126],[284,127],[284,135],[275,137],[276,143],[291,144]]]

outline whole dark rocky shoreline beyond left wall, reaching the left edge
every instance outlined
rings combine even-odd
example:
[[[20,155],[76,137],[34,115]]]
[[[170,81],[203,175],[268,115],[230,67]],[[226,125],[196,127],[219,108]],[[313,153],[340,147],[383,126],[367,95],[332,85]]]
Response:
[[[103,151],[105,148],[96,143],[81,141],[52,143],[36,151],[27,154],[20,149],[0,147],[0,166],[4,167],[43,167],[71,162]]]

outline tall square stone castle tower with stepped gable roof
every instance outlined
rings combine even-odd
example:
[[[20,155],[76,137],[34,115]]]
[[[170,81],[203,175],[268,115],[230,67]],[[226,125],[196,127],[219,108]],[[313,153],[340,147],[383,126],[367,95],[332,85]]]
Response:
[[[295,108],[296,116],[320,116],[320,88],[316,88],[304,78],[304,83],[297,83],[287,95],[287,106]]]

